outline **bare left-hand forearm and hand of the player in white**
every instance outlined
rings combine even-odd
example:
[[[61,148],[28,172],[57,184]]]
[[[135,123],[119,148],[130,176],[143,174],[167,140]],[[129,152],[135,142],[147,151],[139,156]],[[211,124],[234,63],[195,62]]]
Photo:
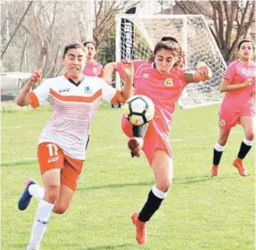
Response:
[[[38,69],[32,73],[28,82],[25,84],[24,88],[17,95],[17,105],[26,106],[32,103],[28,93],[32,87],[34,87],[41,78],[42,71]]]

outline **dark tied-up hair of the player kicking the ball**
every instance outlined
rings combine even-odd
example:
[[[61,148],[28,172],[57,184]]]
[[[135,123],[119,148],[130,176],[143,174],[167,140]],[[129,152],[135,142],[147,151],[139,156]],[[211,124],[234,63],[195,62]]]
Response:
[[[161,38],[161,41],[159,41],[153,51],[152,56],[150,57],[150,60],[153,61],[155,59],[155,55],[157,52],[161,49],[171,50],[174,52],[174,54],[178,57],[177,62],[173,65],[178,67],[184,66],[184,52],[182,50],[182,47],[178,40],[173,37],[163,37]]]

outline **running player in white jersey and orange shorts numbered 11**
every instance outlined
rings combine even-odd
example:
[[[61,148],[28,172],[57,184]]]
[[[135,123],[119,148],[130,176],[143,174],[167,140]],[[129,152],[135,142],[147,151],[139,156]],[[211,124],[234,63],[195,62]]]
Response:
[[[100,100],[124,103],[131,95],[133,67],[130,61],[124,61],[126,83],[119,92],[103,79],[83,76],[84,58],[83,44],[68,45],[62,58],[67,73],[45,80],[30,91],[39,82],[42,70],[34,71],[17,96],[19,106],[31,104],[36,108],[48,101],[52,109],[50,121],[39,137],[38,158],[44,188],[27,179],[18,201],[18,209],[22,211],[27,209],[32,197],[39,201],[28,250],[39,250],[50,213],[61,214],[70,206],[83,168],[92,117]]]

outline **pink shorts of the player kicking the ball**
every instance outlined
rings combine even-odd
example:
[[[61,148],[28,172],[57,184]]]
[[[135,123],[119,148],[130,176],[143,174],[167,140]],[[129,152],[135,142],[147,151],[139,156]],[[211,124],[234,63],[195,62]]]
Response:
[[[128,122],[125,116],[122,118],[121,126],[124,133],[128,137],[132,137],[132,124]],[[156,149],[165,151],[170,158],[173,158],[172,150],[169,145],[168,133],[162,133],[161,131],[161,123],[157,123],[156,119],[150,121],[144,137],[144,146],[142,147],[142,150],[144,151],[150,165]]]

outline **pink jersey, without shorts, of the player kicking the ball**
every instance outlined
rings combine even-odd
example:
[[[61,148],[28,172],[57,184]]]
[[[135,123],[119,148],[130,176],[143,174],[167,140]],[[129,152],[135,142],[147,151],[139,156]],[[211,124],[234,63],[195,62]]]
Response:
[[[154,118],[162,119],[168,127],[173,119],[176,102],[187,84],[184,80],[185,70],[174,67],[171,73],[161,74],[150,61],[134,60],[133,64],[134,94],[150,97],[155,105]],[[124,78],[122,62],[117,63],[117,71]]]

